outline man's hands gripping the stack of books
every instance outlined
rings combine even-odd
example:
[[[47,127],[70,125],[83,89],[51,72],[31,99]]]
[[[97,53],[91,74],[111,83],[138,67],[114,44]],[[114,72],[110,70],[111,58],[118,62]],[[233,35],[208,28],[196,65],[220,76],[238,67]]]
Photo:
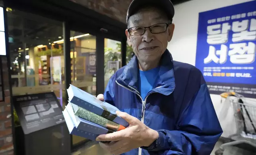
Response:
[[[104,100],[103,95],[98,95],[97,98]],[[100,146],[111,154],[120,155],[141,146],[149,146],[159,137],[156,130],[150,129],[136,117],[124,112],[116,112],[116,114],[125,119],[129,126],[124,130],[99,135],[96,139],[97,141],[112,141],[109,144],[100,143]]]

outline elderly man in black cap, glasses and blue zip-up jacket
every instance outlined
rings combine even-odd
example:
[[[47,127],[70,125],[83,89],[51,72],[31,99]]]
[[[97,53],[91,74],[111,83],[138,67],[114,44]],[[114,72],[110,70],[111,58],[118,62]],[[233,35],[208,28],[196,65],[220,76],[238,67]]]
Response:
[[[133,0],[128,8],[126,36],[135,56],[98,95],[129,123],[97,137],[111,141],[100,143],[111,154],[209,155],[222,134],[202,73],[167,50],[173,16],[170,0]]]

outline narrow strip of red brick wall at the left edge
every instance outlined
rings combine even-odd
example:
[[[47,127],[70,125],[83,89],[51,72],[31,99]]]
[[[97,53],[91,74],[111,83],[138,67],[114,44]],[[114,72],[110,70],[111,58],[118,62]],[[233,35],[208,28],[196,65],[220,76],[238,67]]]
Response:
[[[11,104],[10,104],[10,91],[8,81],[8,67],[6,57],[2,59],[2,77],[4,82],[4,102],[0,101],[0,155],[13,155],[14,146],[12,141],[12,115],[11,115]],[[2,100],[0,98],[0,100]]]

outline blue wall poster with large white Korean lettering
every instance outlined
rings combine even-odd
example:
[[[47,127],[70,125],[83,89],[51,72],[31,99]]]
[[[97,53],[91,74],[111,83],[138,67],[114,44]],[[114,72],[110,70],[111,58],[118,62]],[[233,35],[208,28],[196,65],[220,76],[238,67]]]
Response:
[[[210,93],[256,98],[256,0],[199,13],[196,67]]]

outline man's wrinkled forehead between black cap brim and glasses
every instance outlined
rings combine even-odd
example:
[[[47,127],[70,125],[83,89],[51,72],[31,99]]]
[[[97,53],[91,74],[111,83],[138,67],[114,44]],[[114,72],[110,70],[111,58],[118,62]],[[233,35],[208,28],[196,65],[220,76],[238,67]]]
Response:
[[[129,18],[129,25],[150,26],[157,23],[166,23],[167,21],[167,15],[159,8],[145,7]]]

